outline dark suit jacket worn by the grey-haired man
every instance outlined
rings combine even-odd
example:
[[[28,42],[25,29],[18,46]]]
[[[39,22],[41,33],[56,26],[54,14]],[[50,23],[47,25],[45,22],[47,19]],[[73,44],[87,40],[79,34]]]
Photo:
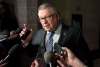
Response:
[[[46,32],[40,29],[34,35],[32,44],[38,45],[37,57],[43,57],[45,49],[45,35]],[[89,60],[89,49],[82,37],[79,24],[75,24],[72,27],[68,27],[62,24],[61,36],[58,44],[60,46],[68,47],[74,54],[84,63],[88,63]]]

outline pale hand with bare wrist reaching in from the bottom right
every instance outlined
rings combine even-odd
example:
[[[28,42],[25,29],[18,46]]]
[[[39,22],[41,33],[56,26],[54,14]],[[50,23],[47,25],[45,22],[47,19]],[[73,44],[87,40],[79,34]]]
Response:
[[[62,49],[64,51],[62,55],[59,55],[60,59],[57,60],[60,67],[87,67],[70,49],[66,47],[62,47]]]

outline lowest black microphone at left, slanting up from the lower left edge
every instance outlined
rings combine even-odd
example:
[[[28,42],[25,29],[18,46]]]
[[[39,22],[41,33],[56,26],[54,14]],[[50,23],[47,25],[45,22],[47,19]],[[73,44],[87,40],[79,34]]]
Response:
[[[0,61],[0,64],[7,63],[9,61],[9,59],[11,58],[11,56],[13,56],[13,54],[15,53],[17,48],[19,48],[19,47],[20,47],[19,44],[12,46],[11,49],[8,51],[7,56]]]

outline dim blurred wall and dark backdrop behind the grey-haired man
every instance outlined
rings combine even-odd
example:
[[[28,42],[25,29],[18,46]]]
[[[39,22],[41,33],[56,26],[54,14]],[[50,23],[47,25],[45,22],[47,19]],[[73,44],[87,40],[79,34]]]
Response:
[[[15,30],[25,23],[34,31],[41,28],[37,23],[37,7],[43,2],[54,4],[67,25],[80,23],[93,54],[94,67],[100,67],[100,0],[0,0],[0,32]],[[4,16],[7,21],[2,20]]]

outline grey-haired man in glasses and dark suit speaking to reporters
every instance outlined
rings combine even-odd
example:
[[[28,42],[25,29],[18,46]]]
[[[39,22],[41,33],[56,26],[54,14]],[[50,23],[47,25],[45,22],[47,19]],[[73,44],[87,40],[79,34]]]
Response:
[[[45,58],[44,53],[48,52],[48,46],[46,43],[48,33],[53,32],[53,43],[52,47],[49,46],[49,51],[54,52],[56,48],[54,46],[56,45],[67,47],[75,54],[77,58],[79,58],[84,64],[88,65],[89,49],[84,41],[84,38],[82,37],[78,23],[74,24],[72,27],[66,26],[60,20],[61,18],[59,17],[56,9],[47,3],[40,5],[38,8],[38,17],[43,29],[37,31],[32,40],[32,44],[38,45],[39,47],[36,56],[37,58]],[[57,49],[57,51],[58,50],[59,49]]]

